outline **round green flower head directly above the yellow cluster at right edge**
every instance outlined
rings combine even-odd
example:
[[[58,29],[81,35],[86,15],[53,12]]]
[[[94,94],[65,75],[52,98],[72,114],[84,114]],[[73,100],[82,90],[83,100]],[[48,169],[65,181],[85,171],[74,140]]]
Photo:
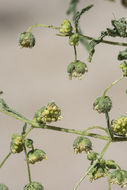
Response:
[[[109,112],[112,108],[112,101],[108,96],[98,97],[93,103],[93,109],[98,113]]]

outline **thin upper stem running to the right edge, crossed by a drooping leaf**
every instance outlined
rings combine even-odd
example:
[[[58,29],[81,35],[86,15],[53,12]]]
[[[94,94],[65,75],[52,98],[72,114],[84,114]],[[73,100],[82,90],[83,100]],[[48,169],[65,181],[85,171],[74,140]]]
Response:
[[[87,40],[95,40],[95,38],[79,34],[80,38],[86,38]],[[121,43],[121,42],[113,42],[108,40],[102,40],[100,43],[110,44],[110,45],[117,45],[117,46],[127,46],[127,43]]]

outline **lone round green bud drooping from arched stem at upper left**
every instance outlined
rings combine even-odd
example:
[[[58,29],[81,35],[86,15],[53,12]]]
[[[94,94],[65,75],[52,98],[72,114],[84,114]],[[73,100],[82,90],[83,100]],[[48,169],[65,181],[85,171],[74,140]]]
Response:
[[[35,45],[35,37],[31,32],[23,32],[19,37],[19,45],[23,48],[32,48]]]

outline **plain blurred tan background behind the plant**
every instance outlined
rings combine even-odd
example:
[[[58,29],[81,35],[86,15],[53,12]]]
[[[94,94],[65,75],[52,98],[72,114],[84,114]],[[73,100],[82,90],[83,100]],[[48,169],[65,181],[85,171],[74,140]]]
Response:
[[[60,26],[67,18],[65,11],[70,0],[0,0],[0,88],[2,97],[10,107],[32,119],[35,111],[54,100],[62,109],[63,119],[57,126],[83,130],[89,126],[106,127],[104,115],[92,110],[96,97],[119,76],[117,55],[123,47],[101,44],[96,48],[89,72],[79,80],[68,80],[67,65],[73,61],[73,48],[65,38],[56,37],[51,29],[33,29],[36,46],[33,49],[20,49],[18,36],[30,25],[43,23]],[[111,19],[126,17],[127,9],[120,1],[109,3],[106,0],[81,0],[78,8],[94,3],[85,16],[82,16],[82,29],[85,34],[98,37],[100,31],[111,26]],[[119,39],[113,39],[119,40]],[[120,41],[126,41],[120,39]],[[87,52],[80,45],[78,58],[87,63]],[[113,87],[108,95],[112,98],[111,119],[127,114],[127,88],[124,79]],[[14,132],[20,133],[23,123],[0,114],[0,162],[9,152],[9,142]],[[99,132],[99,131],[98,131]],[[45,190],[72,190],[76,182],[89,166],[84,154],[74,155],[72,143],[75,135],[49,130],[33,130],[29,137],[35,147],[47,153],[47,161],[31,166],[33,181],[41,182]],[[105,142],[93,139],[95,151],[101,151]],[[112,144],[105,154],[106,159],[115,159],[127,170],[126,142]],[[13,155],[0,170],[0,182],[10,190],[23,189],[28,183],[24,154]],[[92,184],[86,179],[79,187],[83,189],[107,189],[106,179]],[[113,185],[113,190],[120,187]]]

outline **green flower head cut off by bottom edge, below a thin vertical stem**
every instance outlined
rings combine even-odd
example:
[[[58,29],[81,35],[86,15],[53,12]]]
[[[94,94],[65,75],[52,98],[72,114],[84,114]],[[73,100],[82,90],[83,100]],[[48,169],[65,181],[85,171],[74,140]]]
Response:
[[[25,185],[24,190],[44,190],[44,187],[38,182],[32,182]]]

